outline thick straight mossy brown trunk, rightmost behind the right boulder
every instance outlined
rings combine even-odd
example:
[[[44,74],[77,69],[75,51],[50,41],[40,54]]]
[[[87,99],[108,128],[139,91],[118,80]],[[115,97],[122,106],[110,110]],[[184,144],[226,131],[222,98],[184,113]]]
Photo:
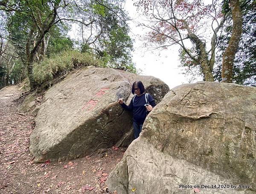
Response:
[[[222,82],[227,83],[233,82],[233,63],[241,39],[243,22],[239,0],[230,0],[230,6],[232,11],[233,28],[227,49],[222,56],[221,72]]]

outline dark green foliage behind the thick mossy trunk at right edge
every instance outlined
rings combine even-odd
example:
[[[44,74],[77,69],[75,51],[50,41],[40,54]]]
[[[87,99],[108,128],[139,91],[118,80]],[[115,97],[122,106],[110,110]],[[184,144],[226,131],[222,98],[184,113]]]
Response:
[[[243,14],[243,28],[239,49],[236,53],[233,67],[233,82],[241,85],[256,86],[256,1],[244,4],[241,2]],[[226,34],[219,38],[217,67],[214,69],[215,79],[221,82],[222,54],[227,48],[231,37],[232,26],[225,29]]]

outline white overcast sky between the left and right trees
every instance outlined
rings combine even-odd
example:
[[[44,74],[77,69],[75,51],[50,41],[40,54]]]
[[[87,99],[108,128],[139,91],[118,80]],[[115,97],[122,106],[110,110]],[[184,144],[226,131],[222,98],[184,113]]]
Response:
[[[173,45],[165,51],[147,51],[143,48],[143,42],[140,41],[140,35],[145,34],[147,29],[138,27],[138,21],[142,21],[142,17],[137,13],[136,7],[133,6],[134,1],[126,0],[124,8],[128,11],[129,16],[134,22],[128,22],[131,28],[129,34],[134,40],[133,61],[136,63],[136,68],[143,70],[142,75],[154,76],[161,79],[169,85],[170,89],[173,87],[187,83],[188,78],[181,74],[178,50],[179,46]],[[201,81],[198,79],[198,81]]]

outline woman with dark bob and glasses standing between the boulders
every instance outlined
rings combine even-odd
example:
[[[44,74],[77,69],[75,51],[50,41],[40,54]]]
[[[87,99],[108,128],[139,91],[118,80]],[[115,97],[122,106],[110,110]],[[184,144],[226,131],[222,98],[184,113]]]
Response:
[[[118,102],[126,110],[133,111],[134,138],[136,139],[140,135],[147,113],[150,112],[154,106],[156,106],[156,103],[154,101],[154,98],[150,94],[148,94],[148,104],[147,104],[146,98],[145,98],[146,94],[144,93],[145,87],[141,81],[136,81],[132,84],[131,92],[133,94],[136,94],[136,96],[134,96],[131,99],[129,106],[127,106],[123,102],[122,98],[119,98]]]

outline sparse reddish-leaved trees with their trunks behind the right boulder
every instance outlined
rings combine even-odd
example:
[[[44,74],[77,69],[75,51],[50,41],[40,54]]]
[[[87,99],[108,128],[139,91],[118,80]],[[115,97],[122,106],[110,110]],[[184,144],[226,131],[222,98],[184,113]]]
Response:
[[[249,2],[249,1],[248,1]],[[242,33],[242,8],[239,0],[137,0],[134,4],[148,22],[141,23],[150,32],[144,37],[151,48],[167,49],[180,46],[180,62],[187,73],[204,76],[204,81],[215,81],[215,55],[224,30],[230,26],[230,38],[222,52],[221,82],[233,82],[233,64]],[[245,13],[243,13],[244,15]],[[253,36],[250,34],[250,37]],[[236,66],[236,64],[235,64]]]

